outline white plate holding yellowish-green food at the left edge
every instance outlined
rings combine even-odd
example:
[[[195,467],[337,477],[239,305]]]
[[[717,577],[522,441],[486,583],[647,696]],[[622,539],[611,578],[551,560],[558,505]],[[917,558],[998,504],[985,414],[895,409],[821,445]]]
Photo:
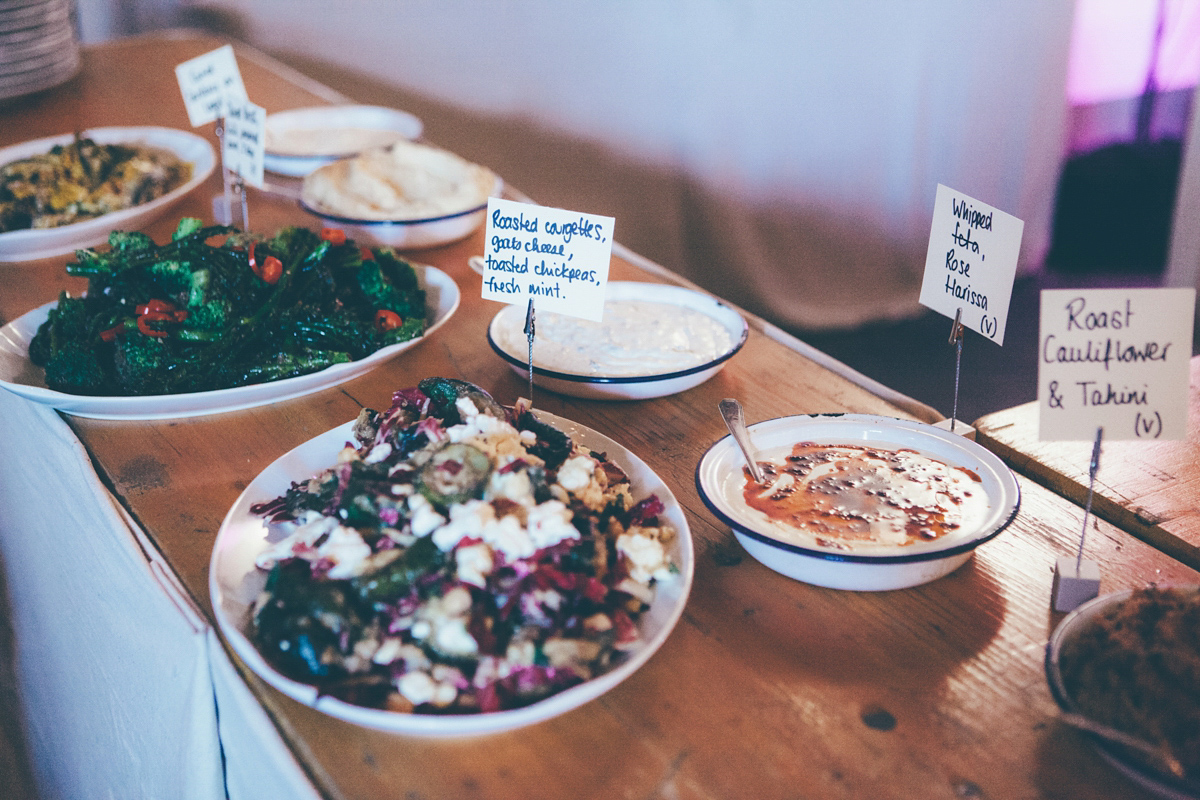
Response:
[[[216,154],[212,145],[206,139],[187,131],[161,127],[107,127],[89,128],[82,131],[82,134],[97,144],[139,144],[169,150],[181,161],[191,162],[192,179],[167,194],[132,209],[113,211],[59,228],[2,233],[0,234],[0,261],[28,261],[62,255],[83,247],[101,245],[108,241],[108,234],[114,230],[144,228],[203,184],[216,168]],[[74,134],[65,133],[14,144],[0,150],[0,164],[41,155],[48,152],[56,144],[70,144],[73,140]]]

